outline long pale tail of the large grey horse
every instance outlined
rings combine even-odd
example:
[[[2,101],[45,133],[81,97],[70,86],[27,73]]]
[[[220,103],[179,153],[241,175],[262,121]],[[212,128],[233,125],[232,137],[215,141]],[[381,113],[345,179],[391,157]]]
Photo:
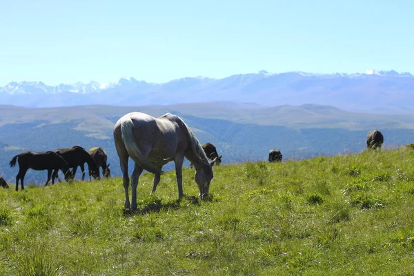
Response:
[[[128,155],[132,160],[140,164],[142,168],[148,170],[148,172],[161,174],[162,170],[154,166],[148,157],[142,154],[141,150],[139,150],[137,142],[135,141],[135,137],[132,133],[132,126],[134,126],[134,123],[130,118],[125,119],[121,123],[122,141],[124,142],[125,148],[128,151]]]

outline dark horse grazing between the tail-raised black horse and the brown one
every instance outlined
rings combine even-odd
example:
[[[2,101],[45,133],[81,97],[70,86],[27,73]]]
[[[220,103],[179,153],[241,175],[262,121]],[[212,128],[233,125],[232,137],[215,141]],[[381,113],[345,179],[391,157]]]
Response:
[[[82,170],[82,181],[85,180],[85,166],[88,164],[89,175],[92,175],[94,179],[99,179],[99,168],[97,164],[90,156],[90,154],[81,146],[72,146],[72,148],[61,148],[59,150],[54,150],[58,155],[63,157],[63,159],[68,162],[69,168],[73,168],[72,175],[75,177],[77,167],[80,166]],[[57,172],[53,172],[52,178],[59,179]]]

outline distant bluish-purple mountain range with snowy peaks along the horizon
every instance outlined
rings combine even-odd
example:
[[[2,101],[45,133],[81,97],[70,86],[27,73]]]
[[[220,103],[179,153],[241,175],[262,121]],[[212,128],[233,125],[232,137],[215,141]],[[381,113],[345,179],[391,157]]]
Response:
[[[0,88],[0,102],[23,107],[81,105],[148,106],[207,101],[237,101],[251,106],[330,105],[371,113],[414,112],[414,76],[408,72],[308,72],[232,75],[222,79],[185,77],[166,83],[121,78],[117,83],[48,86],[41,81],[10,82]]]

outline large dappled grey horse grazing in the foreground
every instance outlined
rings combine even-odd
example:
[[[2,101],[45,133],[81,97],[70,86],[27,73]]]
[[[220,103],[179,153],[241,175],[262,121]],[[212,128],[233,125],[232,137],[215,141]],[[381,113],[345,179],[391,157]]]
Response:
[[[183,196],[182,165],[186,157],[195,166],[194,180],[199,188],[199,197],[208,196],[210,181],[213,179],[213,161],[208,161],[206,152],[199,144],[193,131],[184,121],[167,113],[154,118],[141,112],[131,112],[121,117],[114,128],[115,147],[124,175],[125,208],[130,208],[128,196],[128,158],[135,161],[131,177],[132,210],[137,210],[137,185],[139,175],[145,169],[152,172],[154,182],[151,193],[159,183],[162,166],[169,161],[175,162],[178,197]]]

